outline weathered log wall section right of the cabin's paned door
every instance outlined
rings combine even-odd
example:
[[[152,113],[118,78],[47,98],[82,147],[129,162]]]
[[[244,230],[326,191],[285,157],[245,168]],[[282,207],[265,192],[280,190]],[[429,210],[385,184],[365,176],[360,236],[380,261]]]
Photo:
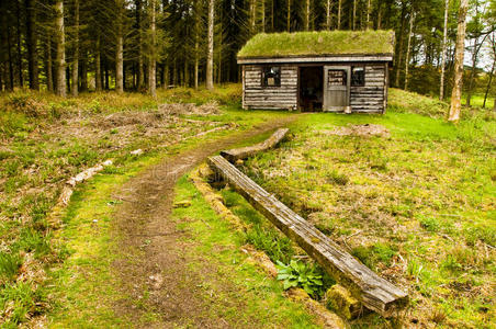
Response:
[[[351,87],[351,112],[384,113],[387,106],[387,64],[365,64],[365,86]]]

